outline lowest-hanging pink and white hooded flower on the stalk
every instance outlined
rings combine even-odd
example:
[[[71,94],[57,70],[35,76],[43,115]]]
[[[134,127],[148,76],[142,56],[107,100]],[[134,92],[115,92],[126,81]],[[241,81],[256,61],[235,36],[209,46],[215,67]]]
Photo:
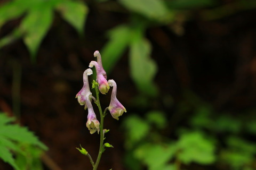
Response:
[[[88,107],[88,115],[87,115],[87,122],[86,127],[89,129],[90,133],[93,134],[96,131],[99,133],[100,131],[100,122],[96,118],[96,114],[93,111],[92,103],[91,103],[91,95],[92,93],[87,93],[85,97],[85,101]]]

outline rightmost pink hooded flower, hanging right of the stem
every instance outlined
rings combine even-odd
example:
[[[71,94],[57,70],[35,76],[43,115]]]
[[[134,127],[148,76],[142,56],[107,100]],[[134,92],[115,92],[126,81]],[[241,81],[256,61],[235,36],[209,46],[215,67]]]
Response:
[[[109,86],[113,87],[110,104],[108,106],[109,112],[113,118],[119,120],[119,116],[122,116],[124,112],[126,112],[125,107],[117,100],[116,98],[116,82],[114,80],[108,80]]]

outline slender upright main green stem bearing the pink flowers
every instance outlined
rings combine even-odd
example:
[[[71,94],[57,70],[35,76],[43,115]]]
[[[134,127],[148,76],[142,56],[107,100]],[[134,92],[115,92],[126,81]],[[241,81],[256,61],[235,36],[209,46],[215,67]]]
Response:
[[[100,99],[99,99],[99,89],[98,87],[95,87],[95,91],[96,91],[96,96],[97,96],[97,106],[99,108],[99,111],[100,111],[100,149],[99,149],[99,154],[98,154],[98,157],[97,157],[97,160],[95,162],[95,165],[93,166],[93,170],[97,170],[98,168],[98,165],[100,163],[100,158],[101,158],[101,155],[104,151],[104,147],[103,147],[103,140],[104,140],[104,134],[103,134],[103,113],[102,113],[102,109],[101,109],[101,106],[100,106]]]

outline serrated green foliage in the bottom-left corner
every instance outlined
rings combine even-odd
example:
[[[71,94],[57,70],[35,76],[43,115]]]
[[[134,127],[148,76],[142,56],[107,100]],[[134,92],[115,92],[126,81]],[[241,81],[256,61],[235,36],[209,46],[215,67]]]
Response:
[[[17,170],[43,169],[40,157],[47,147],[33,132],[12,122],[13,117],[0,113],[0,158]]]

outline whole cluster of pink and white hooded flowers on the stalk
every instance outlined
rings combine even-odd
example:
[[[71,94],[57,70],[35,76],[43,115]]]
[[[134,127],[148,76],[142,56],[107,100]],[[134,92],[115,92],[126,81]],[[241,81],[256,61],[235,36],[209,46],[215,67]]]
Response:
[[[96,81],[98,83],[99,91],[101,92],[101,94],[105,95],[110,89],[110,87],[113,87],[108,110],[113,118],[115,118],[116,120],[119,120],[118,117],[122,116],[122,114],[126,112],[126,109],[116,98],[116,91],[117,91],[116,82],[114,80],[107,81],[107,74],[106,74],[106,71],[103,69],[102,62],[101,62],[101,55],[98,50],[94,52],[94,57],[97,57],[97,62],[91,61],[91,63],[89,64],[89,67],[92,68],[93,66],[95,66],[95,70],[97,73]],[[96,114],[93,110],[93,106],[91,103],[92,98],[94,97],[92,96],[92,93],[90,91],[88,75],[91,75],[92,73],[93,72],[91,69],[87,69],[84,71],[84,74],[83,74],[84,85],[76,95],[78,103],[80,105],[84,105],[85,110],[88,108],[86,127],[90,130],[91,134],[95,133],[96,131],[99,133],[99,130],[100,130],[100,123],[97,120]]]

